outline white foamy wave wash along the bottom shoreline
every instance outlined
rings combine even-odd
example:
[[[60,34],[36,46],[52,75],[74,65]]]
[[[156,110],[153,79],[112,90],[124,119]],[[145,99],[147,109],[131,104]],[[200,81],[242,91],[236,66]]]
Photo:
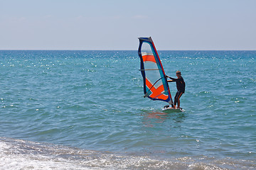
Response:
[[[0,170],[6,169],[255,169],[253,161],[180,157],[157,159],[42,145],[0,137]]]

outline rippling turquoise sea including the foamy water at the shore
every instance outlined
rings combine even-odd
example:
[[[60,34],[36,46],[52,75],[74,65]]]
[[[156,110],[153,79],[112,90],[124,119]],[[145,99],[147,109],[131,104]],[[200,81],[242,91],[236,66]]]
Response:
[[[0,169],[256,169],[256,51],[159,57],[183,112],[144,98],[136,50],[0,50]]]

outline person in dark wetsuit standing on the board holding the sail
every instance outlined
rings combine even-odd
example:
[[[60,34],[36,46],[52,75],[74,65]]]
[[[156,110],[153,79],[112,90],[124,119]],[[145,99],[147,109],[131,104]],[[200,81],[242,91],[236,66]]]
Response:
[[[174,98],[174,106],[173,108],[176,108],[176,104],[178,104],[177,108],[180,108],[181,102],[180,102],[180,98],[182,96],[182,94],[185,94],[185,81],[183,80],[183,77],[181,77],[181,72],[177,71],[176,72],[176,77],[178,77],[178,79],[174,79],[172,77],[169,77],[171,80],[168,80],[168,82],[176,82],[176,86],[177,86],[177,93],[175,95]]]

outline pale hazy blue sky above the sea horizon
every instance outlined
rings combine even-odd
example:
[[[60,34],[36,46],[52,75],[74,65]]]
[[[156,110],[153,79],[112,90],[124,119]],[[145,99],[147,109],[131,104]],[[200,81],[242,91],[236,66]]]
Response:
[[[256,50],[256,0],[0,0],[0,50]]]

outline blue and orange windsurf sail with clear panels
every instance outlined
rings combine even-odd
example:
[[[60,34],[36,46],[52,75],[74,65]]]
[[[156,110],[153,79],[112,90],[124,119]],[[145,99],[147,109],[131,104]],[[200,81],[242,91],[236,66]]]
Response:
[[[138,54],[144,81],[144,97],[173,104],[166,74],[151,37],[139,38]]]

